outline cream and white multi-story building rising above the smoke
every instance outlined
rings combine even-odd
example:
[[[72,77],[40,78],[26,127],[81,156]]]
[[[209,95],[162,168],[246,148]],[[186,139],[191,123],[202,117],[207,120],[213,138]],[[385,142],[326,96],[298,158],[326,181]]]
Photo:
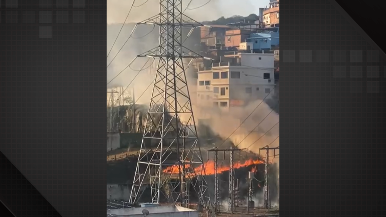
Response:
[[[198,72],[198,105],[229,110],[271,93],[275,86],[274,54],[234,53],[224,59],[213,64],[211,70]],[[273,91],[268,97],[271,95]]]

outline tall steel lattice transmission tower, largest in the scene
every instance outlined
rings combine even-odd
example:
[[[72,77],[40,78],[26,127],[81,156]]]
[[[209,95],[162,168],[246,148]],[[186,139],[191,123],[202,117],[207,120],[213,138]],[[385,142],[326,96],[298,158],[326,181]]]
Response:
[[[150,185],[151,202],[188,206],[193,187],[200,205],[207,207],[205,166],[183,63],[203,57],[183,46],[181,34],[183,27],[191,33],[202,25],[183,15],[181,0],[160,0],[159,14],[138,24],[159,25],[159,46],[138,55],[157,58],[158,64],[129,202],[137,203]]]

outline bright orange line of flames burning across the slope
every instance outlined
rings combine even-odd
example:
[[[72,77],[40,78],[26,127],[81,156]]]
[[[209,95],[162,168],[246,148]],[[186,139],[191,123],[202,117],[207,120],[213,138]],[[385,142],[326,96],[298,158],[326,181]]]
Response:
[[[245,161],[244,163],[237,162],[237,163],[233,164],[233,168],[239,169],[239,168],[243,168],[243,167],[247,167],[247,166],[251,166],[251,165],[256,165],[256,164],[262,164],[262,163],[264,163],[264,161],[249,159],[249,160]],[[190,169],[190,167],[191,167],[190,164],[185,164],[185,171],[192,171]],[[193,176],[204,174],[204,171],[202,170],[202,166],[198,166],[197,168],[193,168],[193,170],[194,170],[194,172],[193,171],[191,172],[192,173],[191,175],[193,175]],[[169,166],[168,168],[163,170],[164,173],[169,173],[169,174],[178,174],[179,171],[182,172],[182,168],[181,168],[181,166],[176,166],[176,165]],[[218,173],[223,173],[225,171],[229,171],[229,166],[218,166]],[[251,171],[256,172],[257,167],[256,166],[253,167]],[[207,161],[207,163],[205,163],[205,174],[206,175],[215,174],[215,162],[214,161],[209,160],[209,161]]]

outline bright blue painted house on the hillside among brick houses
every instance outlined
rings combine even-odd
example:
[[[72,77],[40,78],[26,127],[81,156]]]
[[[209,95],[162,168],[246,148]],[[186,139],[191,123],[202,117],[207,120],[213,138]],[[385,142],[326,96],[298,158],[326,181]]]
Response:
[[[245,42],[253,43],[254,50],[271,49],[271,47],[279,45],[279,32],[252,33]]]

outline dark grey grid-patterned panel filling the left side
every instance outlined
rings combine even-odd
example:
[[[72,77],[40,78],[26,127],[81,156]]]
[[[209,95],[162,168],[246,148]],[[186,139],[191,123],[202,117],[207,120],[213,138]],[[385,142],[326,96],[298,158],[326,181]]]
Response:
[[[18,217],[104,216],[106,1],[0,5],[0,199]]]

